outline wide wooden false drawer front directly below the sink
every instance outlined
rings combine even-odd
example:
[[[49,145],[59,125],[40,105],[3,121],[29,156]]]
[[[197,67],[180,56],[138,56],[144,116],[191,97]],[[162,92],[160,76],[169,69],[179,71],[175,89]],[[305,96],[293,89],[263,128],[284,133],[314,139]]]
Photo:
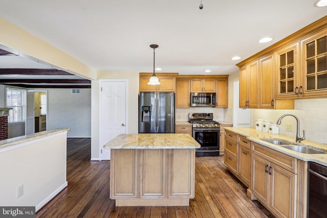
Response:
[[[255,142],[252,142],[252,152],[297,174],[297,161],[295,157],[291,157]]]

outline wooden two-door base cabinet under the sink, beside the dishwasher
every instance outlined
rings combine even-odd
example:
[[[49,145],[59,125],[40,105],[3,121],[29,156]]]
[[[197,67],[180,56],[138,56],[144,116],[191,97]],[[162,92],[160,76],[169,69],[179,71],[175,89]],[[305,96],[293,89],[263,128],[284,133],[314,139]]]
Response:
[[[297,190],[295,158],[266,147],[263,148],[260,144],[253,142],[252,147],[251,189],[253,195],[276,216],[295,217]]]

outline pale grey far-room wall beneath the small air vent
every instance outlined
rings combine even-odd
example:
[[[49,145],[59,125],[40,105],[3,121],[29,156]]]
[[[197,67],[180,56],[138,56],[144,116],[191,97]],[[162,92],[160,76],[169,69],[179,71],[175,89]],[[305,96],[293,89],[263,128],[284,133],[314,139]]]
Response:
[[[48,89],[48,130],[70,128],[68,138],[91,137],[91,89]]]

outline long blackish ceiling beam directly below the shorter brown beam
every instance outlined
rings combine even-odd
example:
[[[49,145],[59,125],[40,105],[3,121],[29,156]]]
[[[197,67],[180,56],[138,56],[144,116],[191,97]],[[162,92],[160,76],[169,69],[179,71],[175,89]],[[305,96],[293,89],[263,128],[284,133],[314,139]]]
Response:
[[[90,80],[65,80],[65,79],[0,79],[0,84],[13,83],[83,83],[91,84]]]

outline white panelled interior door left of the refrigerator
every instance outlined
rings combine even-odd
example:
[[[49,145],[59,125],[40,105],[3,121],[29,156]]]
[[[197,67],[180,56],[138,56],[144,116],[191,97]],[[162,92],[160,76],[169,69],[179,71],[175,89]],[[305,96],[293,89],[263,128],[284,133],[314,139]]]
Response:
[[[100,82],[100,160],[110,160],[105,143],[126,133],[126,81]]]

